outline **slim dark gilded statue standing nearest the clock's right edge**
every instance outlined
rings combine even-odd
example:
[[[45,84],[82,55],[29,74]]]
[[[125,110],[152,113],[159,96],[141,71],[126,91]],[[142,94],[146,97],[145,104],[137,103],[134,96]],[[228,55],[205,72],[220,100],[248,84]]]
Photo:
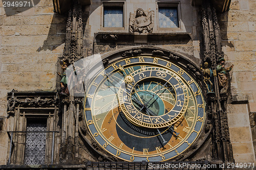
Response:
[[[214,92],[214,72],[208,68],[208,63],[204,63],[204,68],[201,67],[203,73],[203,81],[205,83],[207,93]]]

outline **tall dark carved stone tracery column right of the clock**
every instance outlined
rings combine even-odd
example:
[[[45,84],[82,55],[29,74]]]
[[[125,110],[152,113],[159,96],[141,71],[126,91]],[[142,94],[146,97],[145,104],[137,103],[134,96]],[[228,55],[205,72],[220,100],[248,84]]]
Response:
[[[223,61],[224,53],[221,48],[221,35],[216,10],[209,1],[206,1],[202,6],[202,27],[204,39],[203,64],[206,62],[209,63],[210,69],[213,71],[214,75],[214,80],[212,81],[214,93],[208,93],[207,95],[207,101],[210,107],[209,120],[214,126],[211,133],[211,157],[214,161],[234,162],[227,124],[226,106],[229,89],[227,84],[225,87],[226,90],[222,90],[223,87],[220,86],[220,79],[217,75],[218,67],[220,66],[219,58],[222,58],[221,60]],[[232,66],[227,69],[230,70],[231,68]],[[207,78],[204,76],[204,79]],[[228,80],[226,81],[229,83]],[[205,85],[207,85],[207,83],[205,83]]]

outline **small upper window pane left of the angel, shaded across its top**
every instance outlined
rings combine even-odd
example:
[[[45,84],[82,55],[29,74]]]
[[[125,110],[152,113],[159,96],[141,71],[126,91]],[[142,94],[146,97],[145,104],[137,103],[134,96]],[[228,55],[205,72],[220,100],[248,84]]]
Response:
[[[123,27],[123,6],[104,5],[103,11],[103,27]]]

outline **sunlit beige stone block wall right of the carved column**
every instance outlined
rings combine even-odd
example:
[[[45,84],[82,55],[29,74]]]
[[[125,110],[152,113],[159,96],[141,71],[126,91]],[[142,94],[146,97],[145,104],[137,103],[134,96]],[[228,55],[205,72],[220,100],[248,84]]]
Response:
[[[256,1],[231,1],[230,10],[220,14],[220,28],[227,65],[234,64],[228,107],[234,159],[255,162]]]

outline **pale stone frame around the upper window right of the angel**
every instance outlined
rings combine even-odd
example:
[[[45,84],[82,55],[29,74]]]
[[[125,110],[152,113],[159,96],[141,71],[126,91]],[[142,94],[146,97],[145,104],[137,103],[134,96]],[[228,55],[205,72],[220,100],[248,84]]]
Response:
[[[158,32],[182,32],[183,28],[182,28],[182,21],[181,21],[181,3],[180,1],[167,1],[167,0],[161,0],[161,1],[156,1],[157,3],[157,14],[156,14],[156,20],[157,22],[157,30]],[[159,7],[169,7],[169,8],[177,8],[177,14],[178,14],[178,28],[161,28],[159,27]]]

